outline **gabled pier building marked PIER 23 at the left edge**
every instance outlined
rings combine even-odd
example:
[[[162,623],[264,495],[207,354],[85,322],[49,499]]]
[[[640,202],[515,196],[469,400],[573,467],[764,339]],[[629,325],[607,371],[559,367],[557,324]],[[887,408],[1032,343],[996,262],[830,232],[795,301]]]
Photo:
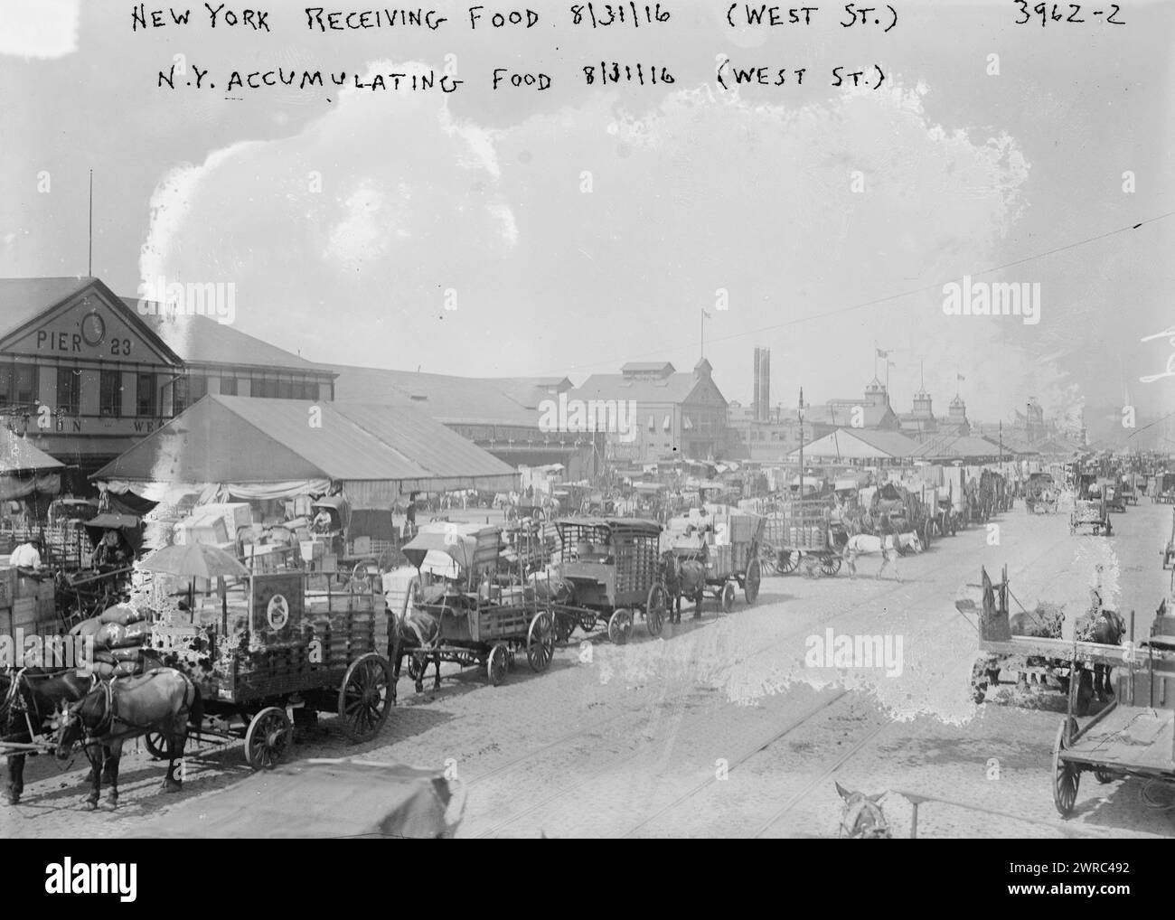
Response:
[[[203,302],[201,302],[203,303]],[[0,419],[69,465],[63,491],[206,394],[334,398],[333,371],[95,277],[0,278]]]

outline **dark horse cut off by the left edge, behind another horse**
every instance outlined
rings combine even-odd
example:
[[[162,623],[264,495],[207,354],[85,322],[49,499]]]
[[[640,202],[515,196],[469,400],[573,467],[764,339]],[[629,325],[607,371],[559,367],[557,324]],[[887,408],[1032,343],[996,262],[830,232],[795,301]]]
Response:
[[[62,704],[76,703],[93,687],[88,674],[46,671],[42,667],[0,671],[0,740],[32,744],[52,731],[52,720]],[[8,754],[8,804],[20,803],[25,791],[25,758]]]

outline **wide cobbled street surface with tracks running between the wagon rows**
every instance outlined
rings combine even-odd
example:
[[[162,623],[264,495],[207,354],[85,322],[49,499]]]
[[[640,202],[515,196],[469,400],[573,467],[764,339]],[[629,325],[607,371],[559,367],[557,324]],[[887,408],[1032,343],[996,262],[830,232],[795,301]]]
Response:
[[[936,539],[875,580],[799,575],[764,580],[753,606],[740,593],[731,613],[709,600],[701,620],[666,625],[652,639],[638,619],[627,645],[602,634],[558,649],[550,670],[519,660],[499,687],[481,671],[443,669],[439,691],[416,694],[407,677],[400,704],[374,741],[349,746],[324,718],[300,738],[296,758],[362,756],[442,768],[469,784],[459,837],[835,837],[834,783],[888,791],[895,835],[909,833],[907,794],[928,801],[918,835],[1170,837],[1167,787],[1142,797],[1139,780],[1097,785],[1083,777],[1073,818],[1050,791],[1061,716],[971,700],[976,630],[954,606],[980,565],[1008,566],[1028,607],[1063,603],[1067,626],[1088,603],[1094,565],[1104,568],[1107,606],[1137,638],[1169,590],[1159,550],[1170,509],[1146,498],[1114,516],[1115,536],[1070,536],[1068,515],[1027,515],[1022,504],[989,526]],[[1015,606],[1013,606],[1015,609]],[[820,643],[881,637],[886,662],[827,666]],[[1067,634],[1069,634],[1067,632]],[[900,654],[899,654],[900,652]],[[880,665],[880,666],[879,666]],[[1053,705],[1053,710],[1047,709]],[[83,808],[80,763],[59,773],[31,761],[25,801],[0,805],[6,837],[102,838],[133,833],[147,817],[242,781],[240,745],[203,748],[186,764],[182,792],[163,793],[163,765],[137,743],[123,758],[119,807]]]

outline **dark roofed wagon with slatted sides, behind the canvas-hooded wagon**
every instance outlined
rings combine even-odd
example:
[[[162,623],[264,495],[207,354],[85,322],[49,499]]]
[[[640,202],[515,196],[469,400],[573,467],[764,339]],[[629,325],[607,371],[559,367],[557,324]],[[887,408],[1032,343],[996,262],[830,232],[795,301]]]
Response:
[[[566,636],[607,622],[607,637],[623,644],[637,613],[650,636],[665,625],[669,593],[660,572],[662,525],[642,518],[580,517],[555,523],[560,575],[570,595],[558,598],[553,616]]]

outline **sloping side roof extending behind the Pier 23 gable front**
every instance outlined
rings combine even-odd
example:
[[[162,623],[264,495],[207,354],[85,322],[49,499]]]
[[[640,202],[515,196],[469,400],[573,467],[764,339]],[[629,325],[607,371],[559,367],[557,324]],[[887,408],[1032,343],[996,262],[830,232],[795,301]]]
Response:
[[[135,297],[121,300],[132,311],[137,313],[139,301]],[[143,322],[187,363],[251,364],[261,368],[329,372],[329,368],[315,364],[208,316],[199,314],[166,316],[161,314],[157,304],[155,307],[154,314],[142,317]]]

